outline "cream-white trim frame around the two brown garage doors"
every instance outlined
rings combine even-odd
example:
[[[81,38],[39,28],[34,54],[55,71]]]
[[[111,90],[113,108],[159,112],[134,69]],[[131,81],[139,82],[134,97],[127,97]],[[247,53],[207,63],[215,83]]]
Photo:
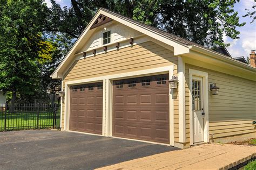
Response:
[[[128,73],[120,73],[108,76],[93,77],[89,79],[73,80],[65,82],[65,110],[64,110],[64,131],[69,131],[70,115],[70,87],[77,84],[103,82],[103,127],[102,136],[112,136],[112,82],[118,79],[129,79],[157,74],[169,73],[169,78],[173,75],[173,65],[152,69],[139,70]],[[170,117],[170,145],[174,146],[174,107],[173,91],[169,95],[169,117]]]

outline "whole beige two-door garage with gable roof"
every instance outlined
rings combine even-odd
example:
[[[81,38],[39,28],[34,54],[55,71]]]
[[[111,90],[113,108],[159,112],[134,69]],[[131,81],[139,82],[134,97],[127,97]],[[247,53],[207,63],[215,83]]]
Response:
[[[51,76],[62,130],[185,148],[256,137],[251,64],[100,9]]]

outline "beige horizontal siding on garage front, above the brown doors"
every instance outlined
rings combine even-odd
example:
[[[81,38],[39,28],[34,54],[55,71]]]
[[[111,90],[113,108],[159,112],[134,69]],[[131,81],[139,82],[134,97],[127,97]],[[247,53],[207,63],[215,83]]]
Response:
[[[96,54],[96,56],[76,60],[64,75],[63,87],[65,87],[66,81],[171,65],[174,65],[174,74],[177,76],[177,56],[173,56],[173,52],[169,49],[152,41],[147,41],[117,51],[107,52],[106,54]],[[64,126],[64,105],[63,103],[62,126]]]

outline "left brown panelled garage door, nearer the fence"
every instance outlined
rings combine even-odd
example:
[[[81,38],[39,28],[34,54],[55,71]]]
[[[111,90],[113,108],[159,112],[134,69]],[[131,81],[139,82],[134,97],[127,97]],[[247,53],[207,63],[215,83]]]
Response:
[[[103,83],[72,86],[69,129],[102,134],[102,104]]]

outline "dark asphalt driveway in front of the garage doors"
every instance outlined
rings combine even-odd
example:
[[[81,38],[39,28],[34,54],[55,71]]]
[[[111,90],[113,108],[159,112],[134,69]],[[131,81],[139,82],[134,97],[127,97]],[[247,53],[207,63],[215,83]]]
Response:
[[[0,132],[0,169],[93,169],[176,147],[60,132]]]

